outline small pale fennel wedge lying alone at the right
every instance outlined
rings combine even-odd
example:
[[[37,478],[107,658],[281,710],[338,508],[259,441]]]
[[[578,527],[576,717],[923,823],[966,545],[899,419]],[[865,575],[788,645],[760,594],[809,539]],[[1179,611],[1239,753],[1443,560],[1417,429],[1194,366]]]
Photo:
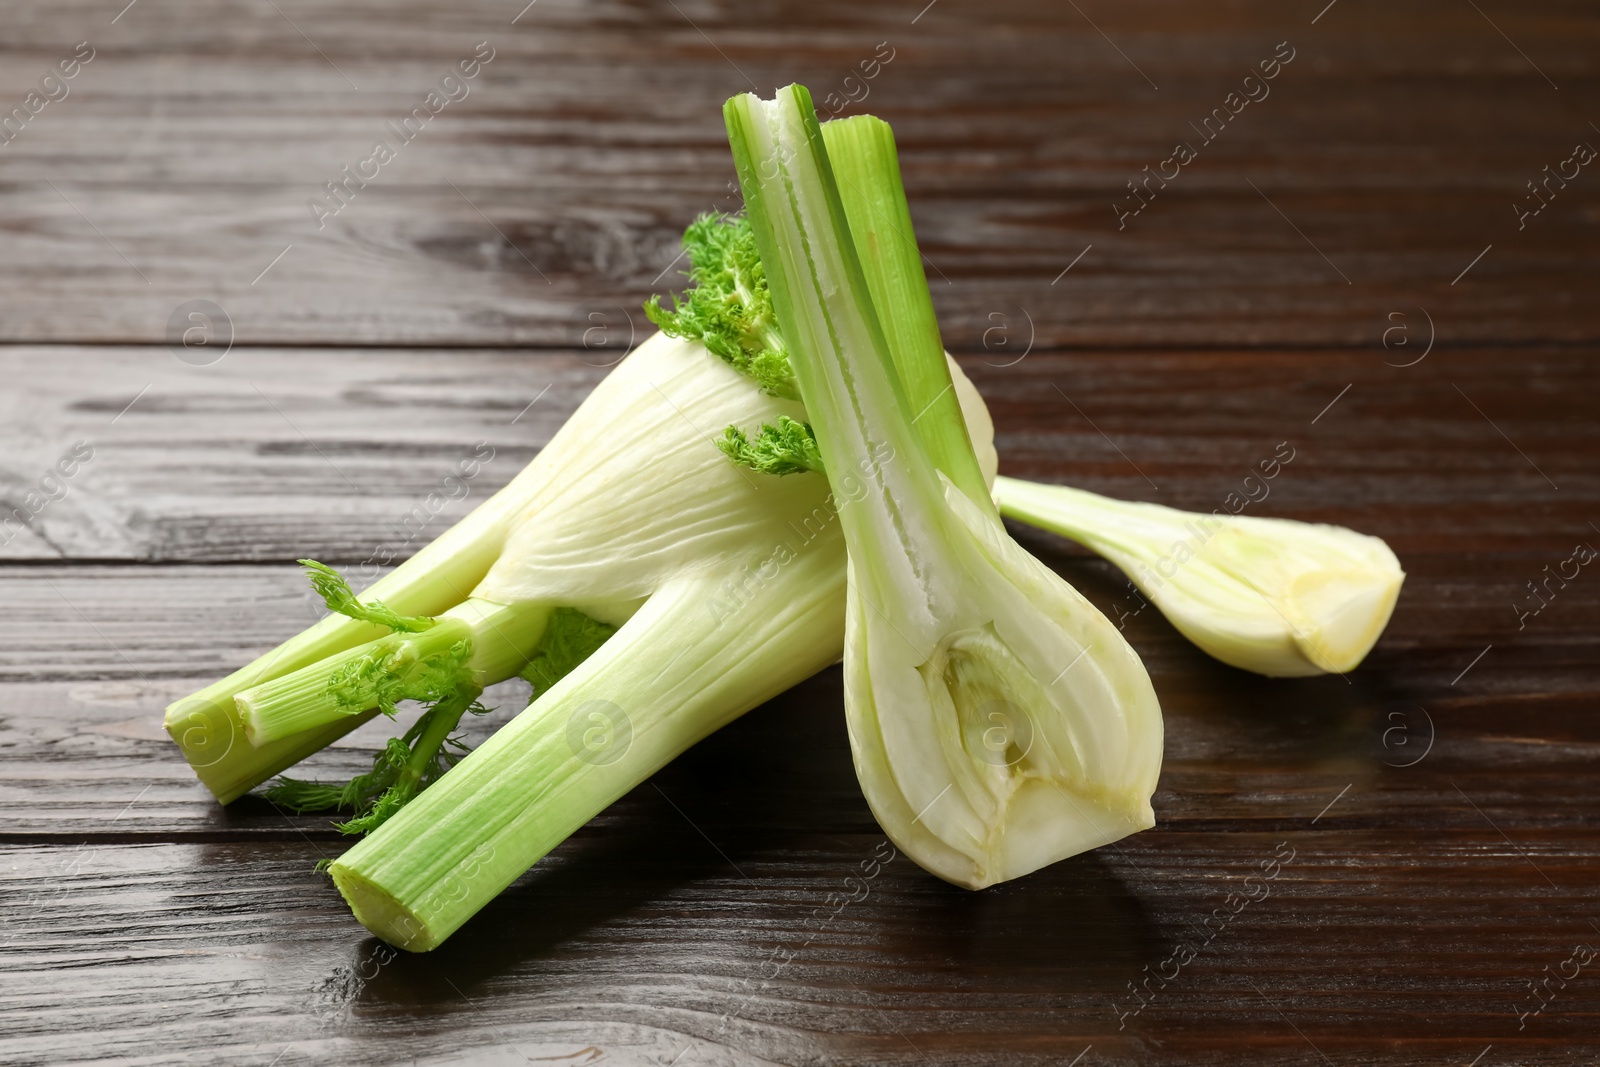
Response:
[[[1272,677],[1354,670],[1405,581],[1387,544],[1344,526],[1202,515],[1016,478],[995,480],[995,501],[1115,563],[1211,656]]]

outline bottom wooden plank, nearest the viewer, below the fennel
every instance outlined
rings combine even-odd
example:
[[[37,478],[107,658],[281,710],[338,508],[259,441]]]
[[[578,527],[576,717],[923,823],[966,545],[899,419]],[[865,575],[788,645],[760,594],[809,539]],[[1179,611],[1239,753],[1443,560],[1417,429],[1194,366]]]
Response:
[[[728,859],[659,798],[584,830],[426,957],[390,958],[363,936],[306,843],[6,848],[0,929],[18,936],[0,1054],[67,1062],[64,1037],[70,1062],[198,1049],[584,1062],[598,1048],[622,1064],[1066,1064],[1093,1046],[1085,1062],[1466,1064],[1493,1045],[1496,1062],[1565,1064],[1600,1051],[1594,984],[1571,982],[1523,1030],[1509,1011],[1528,1000],[1514,976],[1594,944],[1592,837],[1558,841],[1555,888],[1486,827],[1155,830],[981,894],[896,857],[816,933],[805,920],[835,907],[880,838],[722,833],[718,813],[760,798],[742,782],[674,797]],[[1557,841],[1525,838],[1541,843]],[[1269,894],[1221,925],[1272,856],[1288,859]],[[1123,1014],[1138,1005],[1128,987],[1184,945],[1195,958]]]

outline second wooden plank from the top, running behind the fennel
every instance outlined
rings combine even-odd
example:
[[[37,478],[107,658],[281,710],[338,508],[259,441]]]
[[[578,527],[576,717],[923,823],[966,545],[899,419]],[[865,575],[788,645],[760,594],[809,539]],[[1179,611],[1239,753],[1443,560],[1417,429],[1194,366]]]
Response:
[[[80,442],[93,458],[61,499],[37,498],[27,531],[0,533],[0,558],[405,558],[509,482],[618,355],[235,349],[195,368],[162,349],[3,347],[0,374],[29,389],[0,395],[0,514],[27,506]],[[995,414],[1006,474],[1210,512],[1286,442],[1294,459],[1250,514],[1350,525],[1402,558],[1526,553],[1510,603],[1595,534],[1592,352],[1440,346],[1394,366],[1413,358],[1397,347],[962,363]],[[485,446],[493,459],[446,488]],[[435,498],[413,537],[406,515],[440,490],[464,496]]]

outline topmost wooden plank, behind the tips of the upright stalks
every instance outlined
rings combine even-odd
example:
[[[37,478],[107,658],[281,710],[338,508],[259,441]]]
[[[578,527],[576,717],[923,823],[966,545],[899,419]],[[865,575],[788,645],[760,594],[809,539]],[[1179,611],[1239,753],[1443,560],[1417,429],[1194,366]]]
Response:
[[[165,344],[192,299],[250,344],[621,330],[675,283],[683,226],[738,206],[722,101],[789,80],[826,99],[880,42],[893,61],[856,110],[899,131],[957,347],[994,341],[995,315],[1040,349],[1374,346],[1424,307],[1459,342],[1600,338],[1595,181],[1514,211],[1600,144],[1600,26],[1578,3],[922,6],[544,0],[512,24],[486,0],[141,0],[115,22],[22,5],[6,107],[72,42],[96,56],[3,146],[0,283],[26,299],[0,306],[0,339]],[[386,123],[480,40],[470,94],[398,146]],[[1206,142],[1197,125],[1278,42],[1294,59],[1270,96]],[[318,227],[307,200],[384,138],[395,160]],[[1195,162],[1120,221],[1179,141]]]

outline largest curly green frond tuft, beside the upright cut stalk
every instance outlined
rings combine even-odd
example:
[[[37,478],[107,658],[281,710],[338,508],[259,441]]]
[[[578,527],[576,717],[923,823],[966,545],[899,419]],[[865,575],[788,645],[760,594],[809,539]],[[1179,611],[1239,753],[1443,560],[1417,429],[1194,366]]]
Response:
[[[797,400],[750,224],[744,216],[702,214],[683,232],[683,250],[694,286],[672,298],[672,310],[651,296],[645,304],[650,322],[674,338],[699,341],[762,392]]]

